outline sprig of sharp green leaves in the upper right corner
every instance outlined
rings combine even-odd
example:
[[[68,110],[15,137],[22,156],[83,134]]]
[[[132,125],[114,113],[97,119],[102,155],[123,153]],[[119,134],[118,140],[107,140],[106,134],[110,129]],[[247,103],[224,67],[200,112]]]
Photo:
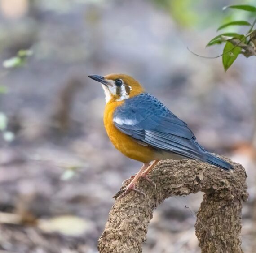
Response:
[[[246,57],[256,56],[256,7],[252,5],[240,4],[225,6],[225,9],[236,9],[236,11],[245,11],[250,13],[249,17],[253,17],[252,23],[246,20],[236,20],[221,25],[217,31],[230,28],[231,26],[250,26],[246,34],[239,33],[224,33],[219,34],[210,40],[207,46],[225,43],[225,47],[222,53],[222,64],[227,71],[234,63],[239,54],[243,54]]]

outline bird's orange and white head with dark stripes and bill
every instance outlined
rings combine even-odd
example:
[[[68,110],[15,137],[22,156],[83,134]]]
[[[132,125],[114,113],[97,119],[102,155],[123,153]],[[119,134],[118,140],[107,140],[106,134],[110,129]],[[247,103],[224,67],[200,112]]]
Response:
[[[105,77],[89,75],[88,77],[102,84],[106,103],[123,101],[144,92],[138,81],[125,74],[110,74]]]

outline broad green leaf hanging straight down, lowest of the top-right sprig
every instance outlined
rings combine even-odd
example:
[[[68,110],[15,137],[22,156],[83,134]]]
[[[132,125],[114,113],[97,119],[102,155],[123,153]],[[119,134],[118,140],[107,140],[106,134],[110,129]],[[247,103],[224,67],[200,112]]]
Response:
[[[223,49],[222,55],[222,64],[225,71],[227,71],[229,67],[233,64],[237,56],[240,54],[241,50],[241,47],[234,47],[231,42],[227,41]]]

